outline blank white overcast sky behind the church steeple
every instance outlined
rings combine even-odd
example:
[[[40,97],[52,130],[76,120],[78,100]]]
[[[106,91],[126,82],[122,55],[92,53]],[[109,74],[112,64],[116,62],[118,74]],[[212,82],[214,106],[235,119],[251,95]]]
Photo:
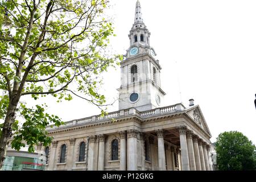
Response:
[[[112,49],[124,54],[137,0],[110,1],[117,34]],[[256,1],[141,0],[141,5],[162,66],[164,105],[188,106],[193,98],[203,111],[212,142],[224,131],[237,130],[256,144]],[[109,101],[117,98],[119,68],[110,69],[104,83],[102,92]],[[63,121],[100,114],[78,98],[48,106],[47,111]],[[118,103],[109,107],[115,110]]]

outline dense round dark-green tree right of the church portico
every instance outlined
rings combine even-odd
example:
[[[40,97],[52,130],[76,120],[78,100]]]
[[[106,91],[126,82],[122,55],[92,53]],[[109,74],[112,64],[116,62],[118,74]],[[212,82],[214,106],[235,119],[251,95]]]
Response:
[[[220,170],[256,170],[256,147],[238,131],[218,135],[216,152]]]

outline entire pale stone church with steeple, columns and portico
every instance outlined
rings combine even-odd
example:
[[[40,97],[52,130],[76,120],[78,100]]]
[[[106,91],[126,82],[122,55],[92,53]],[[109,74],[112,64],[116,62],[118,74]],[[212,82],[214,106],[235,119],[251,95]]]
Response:
[[[162,106],[162,68],[141,12],[137,1],[121,63],[119,110],[48,126],[51,146],[37,147],[47,170],[213,170],[211,134],[199,105]]]

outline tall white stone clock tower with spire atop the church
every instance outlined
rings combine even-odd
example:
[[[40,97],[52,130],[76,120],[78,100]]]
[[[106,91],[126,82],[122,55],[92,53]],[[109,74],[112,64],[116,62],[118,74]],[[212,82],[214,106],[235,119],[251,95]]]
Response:
[[[135,107],[139,111],[162,106],[166,93],[161,89],[159,60],[150,46],[150,32],[142,19],[139,0],[135,7],[135,19],[130,30],[130,47],[121,63],[119,110]]]

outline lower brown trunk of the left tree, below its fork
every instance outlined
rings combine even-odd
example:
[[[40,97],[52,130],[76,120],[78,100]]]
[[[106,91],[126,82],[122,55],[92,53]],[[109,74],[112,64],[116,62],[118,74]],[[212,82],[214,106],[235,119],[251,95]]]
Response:
[[[15,121],[15,110],[19,102],[19,98],[20,97],[10,100],[6,117],[5,117],[5,122],[3,123],[3,130],[0,138],[0,169],[3,166],[3,161],[5,160],[7,147],[12,135],[11,125],[13,125]]]

